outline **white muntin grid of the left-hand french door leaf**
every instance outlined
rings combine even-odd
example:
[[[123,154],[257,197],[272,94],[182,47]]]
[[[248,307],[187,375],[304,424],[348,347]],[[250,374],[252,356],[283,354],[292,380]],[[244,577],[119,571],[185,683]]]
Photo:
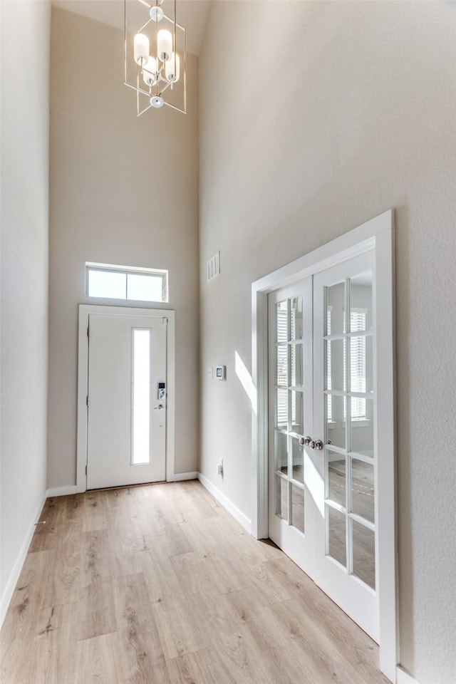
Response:
[[[301,326],[299,326],[300,312]],[[295,527],[298,532],[304,533],[304,447],[299,445],[299,438],[304,436],[304,339],[302,334],[302,298],[291,297],[277,303],[275,333],[276,514],[286,519],[288,524]],[[298,384],[296,380],[301,380],[301,383]],[[298,427],[301,427],[301,430],[296,430]],[[284,437],[286,470],[284,470],[280,445]],[[294,477],[294,442],[302,455],[301,480]],[[299,472],[299,466],[296,471]],[[286,518],[282,511],[284,498],[282,487],[286,490]],[[294,510],[295,507],[299,508],[300,504],[294,497],[296,489],[302,492],[302,518],[299,521],[296,519]]]

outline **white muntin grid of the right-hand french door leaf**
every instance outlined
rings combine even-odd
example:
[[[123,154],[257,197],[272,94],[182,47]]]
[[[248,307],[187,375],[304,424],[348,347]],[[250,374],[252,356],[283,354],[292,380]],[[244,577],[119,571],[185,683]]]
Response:
[[[360,579],[356,574],[354,573],[354,568],[353,568],[353,523],[355,524],[361,524],[364,528],[370,530],[373,535],[375,536],[375,522],[371,522],[370,520],[366,519],[365,517],[356,514],[356,512],[353,512],[353,460],[361,461],[364,462],[370,466],[374,466],[374,457],[370,457],[366,454],[362,454],[356,451],[353,451],[351,449],[352,447],[352,434],[351,434],[351,407],[352,407],[352,398],[361,398],[364,399],[366,402],[366,405],[368,405],[369,400],[371,400],[372,403],[372,415],[375,415],[375,392],[352,392],[351,391],[351,339],[352,338],[365,338],[367,341],[367,338],[372,338],[373,337],[373,327],[369,329],[365,329],[363,331],[356,330],[356,331],[351,331],[351,288],[350,288],[350,278],[346,278],[344,281],[344,321],[343,321],[343,332],[342,333],[335,333],[335,334],[327,334],[328,333],[328,328],[331,325],[330,318],[328,315],[324,316],[324,344],[325,344],[325,353],[323,354],[324,358],[324,363],[325,363],[325,369],[324,369],[324,378],[325,378],[325,385],[324,385],[324,395],[325,395],[325,400],[324,400],[324,415],[325,415],[325,448],[324,448],[324,458],[325,458],[325,553],[326,556],[328,556],[328,559],[331,559],[334,563],[336,563],[341,570],[345,571],[346,573],[350,574],[353,576],[354,579],[357,581],[363,582],[362,579]],[[324,300],[324,306],[325,306],[325,311],[328,312],[329,310],[332,309],[332,306],[328,304],[327,301],[327,293],[328,293],[328,287],[325,287],[325,300]],[[358,327],[358,326],[356,326]],[[366,322],[366,328],[367,328],[367,322]],[[333,389],[328,389],[328,383],[329,378],[328,378],[328,347],[329,343],[331,341],[336,341],[336,340],[342,340],[343,341],[343,387],[346,389],[343,390],[333,390]],[[331,372],[331,369],[330,369]],[[330,397],[341,397],[343,398],[344,402],[344,417],[345,417],[345,445],[346,448],[339,447],[337,445],[331,444],[330,440],[330,430],[328,423],[331,423],[331,420],[333,418],[332,411],[331,411],[331,406],[329,405],[328,398]],[[368,418],[368,411],[366,411],[366,418]],[[346,501],[346,506],[342,506],[340,503],[334,501],[333,499],[330,498],[330,492],[329,492],[329,487],[330,487],[330,482],[329,482],[329,452],[333,452],[336,454],[340,454],[343,456],[345,460],[345,501]],[[346,530],[346,565],[344,566],[341,564],[336,558],[331,556],[330,553],[330,548],[329,548],[329,540],[330,540],[330,510],[333,509],[333,511],[337,511],[339,514],[343,515],[345,518],[345,530]],[[375,537],[374,537],[375,538]],[[373,581],[374,586],[371,587],[366,582],[363,582],[365,586],[370,591],[373,591],[375,593],[375,579]]]

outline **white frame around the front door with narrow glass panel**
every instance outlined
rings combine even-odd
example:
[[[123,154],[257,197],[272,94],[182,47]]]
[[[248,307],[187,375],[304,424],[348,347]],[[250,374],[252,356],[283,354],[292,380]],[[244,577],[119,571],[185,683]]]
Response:
[[[78,340],[78,429],[76,449],[76,492],[87,489],[87,394],[88,394],[88,322],[90,314],[109,316],[149,316],[167,318],[166,342],[166,481],[175,480],[175,312],[170,309],[134,309],[131,306],[79,305]]]

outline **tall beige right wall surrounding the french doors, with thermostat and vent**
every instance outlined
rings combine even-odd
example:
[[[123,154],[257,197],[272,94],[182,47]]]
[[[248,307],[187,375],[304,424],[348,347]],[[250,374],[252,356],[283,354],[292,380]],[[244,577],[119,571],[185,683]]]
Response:
[[[219,1],[199,61],[200,470],[250,517],[252,281],[395,208],[400,660],[420,684],[456,672],[455,22],[447,2]]]

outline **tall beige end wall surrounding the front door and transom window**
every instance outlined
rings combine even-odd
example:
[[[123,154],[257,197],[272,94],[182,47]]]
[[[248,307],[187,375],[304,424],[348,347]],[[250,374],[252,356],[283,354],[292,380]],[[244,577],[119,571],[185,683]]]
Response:
[[[175,471],[197,469],[197,60],[189,113],[136,118],[123,32],[52,11],[48,487],[76,484],[78,304],[86,261],[169,269]],[[92,301],[93,302],[93,301]],[[95,301],[93,303],[99,303]],[[116,302],[112,302],[116,304]]]

